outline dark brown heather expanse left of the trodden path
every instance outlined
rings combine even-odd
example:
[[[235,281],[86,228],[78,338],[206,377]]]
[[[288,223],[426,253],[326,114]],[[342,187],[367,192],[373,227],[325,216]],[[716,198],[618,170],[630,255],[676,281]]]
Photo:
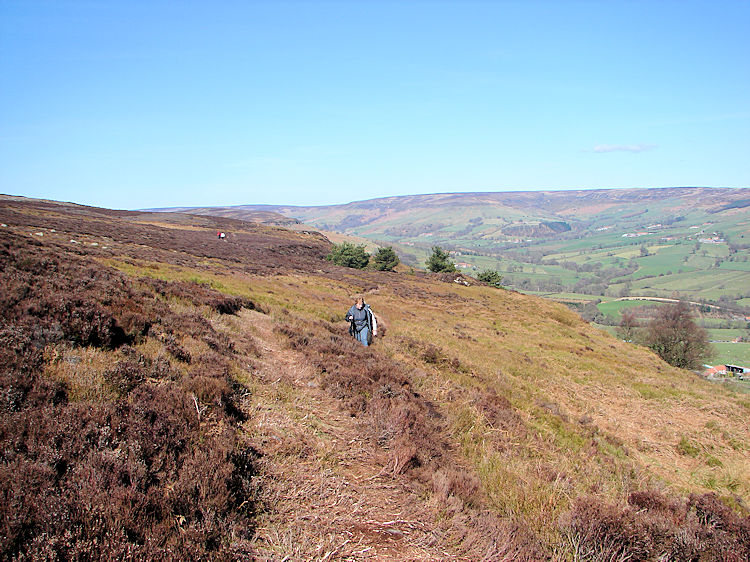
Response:
[[[237,431],[232,343],[200,311],[252,303],[33,238],[4,236],[0,264],[3,558],[249,553],[256,453]],[[86,373],[93,350],[110,358]]]

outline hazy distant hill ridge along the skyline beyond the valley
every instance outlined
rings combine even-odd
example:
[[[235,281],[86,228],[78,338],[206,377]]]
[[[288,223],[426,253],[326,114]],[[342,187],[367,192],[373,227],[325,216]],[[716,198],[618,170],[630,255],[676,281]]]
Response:
[[[640,224],[644,219],[674,220],[696,210],[710,215],[745,209],[750,207],[749,201],[747,189],[675,187],[445,193],[386,197],[345,205],[239,205],[189,211],[240,219],[268,211],[327,230],[399,241],[430,235],[439,240],[506,242],[518,236],[519,227],[561,225],[557,230],[539,229],[535,236],[543,237],[559,231],[580,232],[607,221],[617,221],[619,226],[626,227]]]

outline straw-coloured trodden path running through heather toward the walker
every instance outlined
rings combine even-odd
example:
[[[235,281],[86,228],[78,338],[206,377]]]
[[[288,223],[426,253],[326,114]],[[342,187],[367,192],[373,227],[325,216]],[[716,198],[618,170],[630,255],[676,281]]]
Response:
[[[384,473],[384,452],[318,387],[273,319],[244,311],[239,323],[261,350],[245,429],[263,455],[257,547],[266,559],[459,559],[434,512],[406,480]]]

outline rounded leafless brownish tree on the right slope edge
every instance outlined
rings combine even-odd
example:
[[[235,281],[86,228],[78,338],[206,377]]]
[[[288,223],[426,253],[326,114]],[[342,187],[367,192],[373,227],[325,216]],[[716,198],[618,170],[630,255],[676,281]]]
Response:
[[[695,323],[684,301],[659,307],[646,327],[644,343],[664,361],[683,369],[699,368],[713,353],[708,333]]]

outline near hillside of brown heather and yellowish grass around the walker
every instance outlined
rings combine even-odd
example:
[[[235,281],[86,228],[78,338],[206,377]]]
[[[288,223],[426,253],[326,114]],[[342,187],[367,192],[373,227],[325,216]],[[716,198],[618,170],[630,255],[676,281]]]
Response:
[[[0,224],[3,559],[750,557],[750,400],[560,304],[233,217]]]

